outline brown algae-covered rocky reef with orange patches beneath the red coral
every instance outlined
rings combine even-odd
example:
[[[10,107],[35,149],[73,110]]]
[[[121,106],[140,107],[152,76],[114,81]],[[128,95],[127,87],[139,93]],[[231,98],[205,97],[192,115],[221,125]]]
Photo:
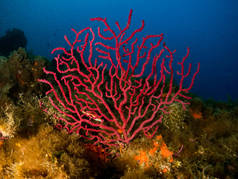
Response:
[[[0,57],[0,176],[3,178],[237,178],[238,104],[193,96],[171,104],[156,137],[105,149],[55,127],[42,111],[42,68],[18,48]],[[44,77],[45,78],[45,77]]]

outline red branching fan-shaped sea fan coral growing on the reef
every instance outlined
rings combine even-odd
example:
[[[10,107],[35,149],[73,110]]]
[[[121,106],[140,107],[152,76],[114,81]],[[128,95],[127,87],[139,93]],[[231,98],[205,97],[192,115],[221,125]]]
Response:
[[[46,95],[57,111],[57,126],[94,144],[128,144],[139,132],[153,137],[170,104],[185,109],[199,72],[200,64],[192,75],[191,64],[185,69],[189,48],[175,63],[175,50],[162,42],[163,34],[137,38],[144,21],[131,30],[131,18],[132,10],[124,28],[98,17],[91,19],[102,23],[97,32],[72,29],[73,41],[64,36],[69,50],[52,51],[62,53],[55,57],[57,72],[44,68],[51,78],[39,79],[49,85]]]

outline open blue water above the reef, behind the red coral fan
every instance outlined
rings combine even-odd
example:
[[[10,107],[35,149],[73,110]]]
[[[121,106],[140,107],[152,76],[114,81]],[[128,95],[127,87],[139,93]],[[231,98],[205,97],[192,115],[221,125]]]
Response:
[[[164,33],[178,56],[190,47],[190,60],[201,63],[192,92],[216,100],[238,99],[237,0],[0,0],[0,36],[9,28],[25,32],[27,49],[52,58],[73,27],[93,25],[92,17],[113,24],[145,20],[145,34]]]

